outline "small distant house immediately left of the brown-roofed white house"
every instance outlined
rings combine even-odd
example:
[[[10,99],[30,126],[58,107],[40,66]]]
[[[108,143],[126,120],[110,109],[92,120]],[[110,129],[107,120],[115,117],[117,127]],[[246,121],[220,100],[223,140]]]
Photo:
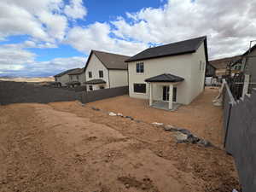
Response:
[[[72,72],[68,73],[68,76],[68,86],[79,86],[85,82],[84,68],[74,69]]]

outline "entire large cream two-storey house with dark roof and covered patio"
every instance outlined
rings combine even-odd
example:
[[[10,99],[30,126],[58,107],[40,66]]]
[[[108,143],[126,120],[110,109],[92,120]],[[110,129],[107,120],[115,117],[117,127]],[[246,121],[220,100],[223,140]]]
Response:
[[[204,90],[207,37],[148,48],[126,62],[131,97],[168,109],[189,104]]]

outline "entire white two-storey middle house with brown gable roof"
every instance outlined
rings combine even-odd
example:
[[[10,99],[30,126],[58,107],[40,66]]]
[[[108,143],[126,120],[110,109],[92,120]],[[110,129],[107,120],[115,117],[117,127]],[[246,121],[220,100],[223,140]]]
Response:
[[[91,50],[84,67],[86,90],[99,90],[128,85],[129,56]]]

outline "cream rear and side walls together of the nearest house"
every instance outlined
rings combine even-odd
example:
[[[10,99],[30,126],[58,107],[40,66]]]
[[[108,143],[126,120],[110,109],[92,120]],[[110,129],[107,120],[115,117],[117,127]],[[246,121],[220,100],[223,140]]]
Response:
[[[144,80],[160,75],[171,73],[184,79],[177,87],[177,102],[189,104],[195,96],[198,96],[204,88],[206,58],[204,45],[193,54],[175,55],[169,57],[155,58],[143,61],[131,61],[128,63],[129,70],[129,95],[135,98],[148,99],[149,84]],[[204,63],[203,70],[200,71],[200,61]],[[144,73],[136,73],[137,62],[144,63]],[[135,93],[133,84],[146,84],[146,93]],[[162,86],[154,84],[154,100],[162,100]]]

